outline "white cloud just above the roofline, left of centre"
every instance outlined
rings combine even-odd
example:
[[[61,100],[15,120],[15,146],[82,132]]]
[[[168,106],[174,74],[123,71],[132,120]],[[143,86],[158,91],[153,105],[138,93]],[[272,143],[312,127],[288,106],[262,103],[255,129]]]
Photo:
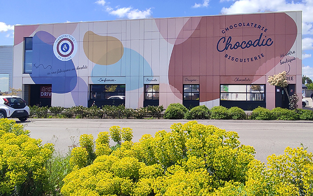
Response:
[[[104,6],[105,11],[111,15],[115,15],[119,18],[129,18],[129,19],[138,19],[138,18],[149,18],[152,15],[151,8],[146,10],[134,9],[133,7],[122,7],[116,9],[106,5],[107,3],[104,0],[98,0],[95,3]]]

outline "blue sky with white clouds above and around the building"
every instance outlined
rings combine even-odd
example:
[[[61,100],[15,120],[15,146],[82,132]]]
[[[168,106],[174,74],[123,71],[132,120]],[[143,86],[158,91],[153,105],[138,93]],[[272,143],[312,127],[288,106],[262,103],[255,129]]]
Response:
[[[303,74],[313,79],[313,0],[0,0],[0,46],[14,25],[303,11]]]

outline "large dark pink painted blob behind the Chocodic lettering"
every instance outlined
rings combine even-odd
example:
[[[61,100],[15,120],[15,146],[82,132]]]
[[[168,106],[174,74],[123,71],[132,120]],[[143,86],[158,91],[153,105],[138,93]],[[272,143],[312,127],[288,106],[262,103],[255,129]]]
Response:
[[[188,24],[179,35],[190,29]],[[168,80],[173,92],[182,93],[177,77],[200,75],[200,88],[212,94],[202,94],[200,102],[219,98],[219,76],[251,75],[257,80],[272,70],[280,64],[280,55],[292,48],[298,32],[285,13],[201,17],[193,29],[183,43],[175,42]]]

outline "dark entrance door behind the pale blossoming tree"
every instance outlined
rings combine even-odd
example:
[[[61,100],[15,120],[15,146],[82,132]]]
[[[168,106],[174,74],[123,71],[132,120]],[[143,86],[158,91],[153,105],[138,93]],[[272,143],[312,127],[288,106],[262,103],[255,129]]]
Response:
[[[296,92],[295,88],[296,88],[295,84],[289,84],[287,86],[289,96],[293,95]],[[285,89],[279,86],[275,86],[275,107],[289,109],[288,95],[285,92]]]

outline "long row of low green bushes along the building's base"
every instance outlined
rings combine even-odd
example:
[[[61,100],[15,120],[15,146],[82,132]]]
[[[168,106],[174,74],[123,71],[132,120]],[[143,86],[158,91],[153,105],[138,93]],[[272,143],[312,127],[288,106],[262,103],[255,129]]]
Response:
[[[313,120],[311,110],[289,110],[274,108],[268,110],[258,107],[252,113],[238,107],[229,109],[215,106],[209,109],[206,106],[197,106],[188,110],[180,103],[170,104],[164,112],[163,106],[148,106],[138,109],[119,106],[103,106],[90,108],[74,106],[63,107],[31,107],[30,118],[85,118],[85,119],[231,119],[231,120]]]

